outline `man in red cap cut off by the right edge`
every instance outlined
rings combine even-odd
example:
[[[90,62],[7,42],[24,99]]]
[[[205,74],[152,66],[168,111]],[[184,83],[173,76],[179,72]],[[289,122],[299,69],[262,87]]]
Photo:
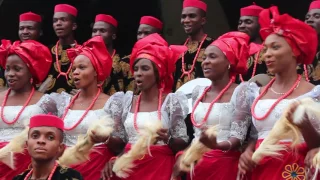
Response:
[[[309,6],[309,11],[305,18],[305,23],[313,27],[317,33],[318,38],[320,35],[320,0],[313,1]],[[319,40],[319,39],[318,39]],[[308,76],[310,82],[314,85],[320,84],[320,48],[318,44],[317,54],[312,62],[312,64],[307,66],[300,65],[298,67],[299,74],[303,74]],[[305,71],[303,73],[302,71]]]

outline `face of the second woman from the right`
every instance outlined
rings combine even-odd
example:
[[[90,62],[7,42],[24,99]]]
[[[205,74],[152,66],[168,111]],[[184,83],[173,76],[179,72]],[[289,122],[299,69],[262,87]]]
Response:
[[[216,46],[208,46],[204,52],[201,64],[204,77],[210,80],[221,79],[229,73],[229,61],[223,52]]]

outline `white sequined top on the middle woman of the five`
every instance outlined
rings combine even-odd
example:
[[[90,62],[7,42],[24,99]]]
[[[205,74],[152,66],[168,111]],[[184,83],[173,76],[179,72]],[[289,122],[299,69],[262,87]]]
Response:
[[[132,91],[128,91],[124,96],[122,121],[130,144],[134,144],[138,139],[138,132],[133,122],[134,113],[131,112],[132,101],[133,93]],[[186,142],[188,141],[188,135],[184,119],[188,112],[188,99],[182,93],[168,94],[161,107],[161,122],[163,128],[169,129],[169,134],[173,138],[181,138]],[[137,125],[139,129],[143,128],[144,122],[146,121],[159,121],[158,112],[138,112]],[[164,142],[159,141],[157,145],[164,145]]]

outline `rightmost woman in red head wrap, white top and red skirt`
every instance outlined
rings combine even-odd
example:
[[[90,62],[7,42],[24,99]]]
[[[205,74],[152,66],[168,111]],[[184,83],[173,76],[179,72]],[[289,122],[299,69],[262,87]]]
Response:
[[[320,86],[307,82],[296,71],[298,63],[312,63],[317,49],[317,33],[288,14],[280,15],[275,6],[260,13],[259,23],[260,34],[265,40],[264,59],[275,78],[261,88],[252,83],[246,89],[247,106],[243,108],[251,113],[253,125],[250,144],[240,158],[240,172],[244,174],[252,170],[251,178],[254,180],[306,179],[304,158],[307,148],[317,147],[320,141],[312,127],[318,126],[312,119],[305,119],[306,123],[297,125],[305,143],[298,147],[296,153],[280,151],[281,158],[265,157],[258,164],[252,161],[252,154],[268,137],[289,104],[306,97],[320,98]],[[291,139],[280,143],[289,146]]]

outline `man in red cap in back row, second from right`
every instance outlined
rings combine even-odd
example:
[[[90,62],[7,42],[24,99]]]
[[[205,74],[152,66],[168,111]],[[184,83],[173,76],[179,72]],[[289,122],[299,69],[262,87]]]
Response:
[[[259,34],[259,14],[263,10],[262,7],[253,4],[251,6],[240,9],[240,19],[238,24],[238,31],[244,32],[250,36],[250,50],[249,59],[247,62],[248,71],[246,75],[240,76],[237,82],[248,81],[257,74],[267,74],[267,67],[262,62],[260,50],[263,46]]]

